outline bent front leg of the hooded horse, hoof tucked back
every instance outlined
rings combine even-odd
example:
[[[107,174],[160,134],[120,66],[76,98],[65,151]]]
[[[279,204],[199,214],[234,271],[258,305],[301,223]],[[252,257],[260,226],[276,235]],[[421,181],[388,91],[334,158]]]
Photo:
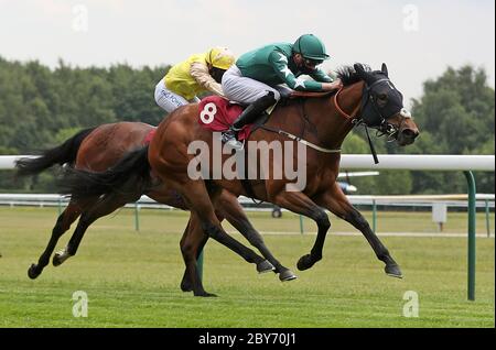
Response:
[[[311,218],[317,225],[317,236],[310,254],[301,256],[296,264],[300,271],[312,267],[322,259],[325,236],[331,227],[327,214],[301,192],[281,192],[273,204]]]

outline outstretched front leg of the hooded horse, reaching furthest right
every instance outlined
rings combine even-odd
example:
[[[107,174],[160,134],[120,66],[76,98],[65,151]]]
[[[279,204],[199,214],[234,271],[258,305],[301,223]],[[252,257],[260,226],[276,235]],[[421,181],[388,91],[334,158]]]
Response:
[[[392,277],[402,278],[401,270],[396,261],[391,258],[388,249],[382,244],[379,238],[374,233],[364,216],[352,206],[341,189],[339,185],[335,183],[328,192],[322,195],[317,200],[319,205],[328,209],[331,212],[352,223],[358,229],[367,239],[377,255],[377,259],[386,264],[386,274]]]

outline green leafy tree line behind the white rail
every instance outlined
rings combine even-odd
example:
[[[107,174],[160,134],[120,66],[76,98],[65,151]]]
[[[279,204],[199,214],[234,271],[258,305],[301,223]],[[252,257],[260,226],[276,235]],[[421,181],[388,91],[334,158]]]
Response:
[[[0,155],[32,154],[103,123],[158,125],[165,112],[154,102],[154,86],[169,68],[127,64],[80,68],[60,61],[51,69],[36,61],[0,57]],[[483,68],[450,67],[439,78],[429,79],[421,98],[413,100],[412,114],[421,131],[416,143],[397,147],[384,138],[373,138],[378,153],[495,153],[495,91]],[[363,130],[352,132],[343,152],[370,152]],[[494,173],[475,176],[479,193],[494,193]],[[463,174],[453,172],[390,171],[352,182],[359,194],[466,192]],[[14,182],[12,172],[1,172],[0,190],[53,193],[53,174]]]

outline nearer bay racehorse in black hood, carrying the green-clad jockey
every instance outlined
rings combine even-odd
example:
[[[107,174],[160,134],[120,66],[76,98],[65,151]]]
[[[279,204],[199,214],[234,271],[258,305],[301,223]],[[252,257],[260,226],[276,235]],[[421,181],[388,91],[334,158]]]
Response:
[[[276,107],[268,122],[249,136],[249,141],[256,141],[255,144],[279,142],[283,154],[296,161],[292,164],[298,163],[299,157],[294,149],[299,143],[303,143],[306,157],[303,168],[306,176],[304,188],[294,186],[285,175],[282,178],[276,178],[271,174],[268,178],[241,179],[227,178],[222,174],[222,177],[217,178],[212,176],[215,171],[213,168],[208,168],[206,176],[192,178],[188,169],[197,160],[196,154],[188,152],[192,142],[205,142],[209,146],[208,157],[212,160],[222,156],[222,165],[228,160],[226,154],[214,154],[214,135],[198,123],[201,111],[195,103],[176,109],[163,120],[148,150],[130,153],[112,169],[99,174],[69,171],[62,184],[66,193],[78,198],[87,197],[88,193],[93,196],[109,195],[125,188],[130,178],[141,178],[144,183],[150,183],[151,169],[182,196],[192,215],[198,218],[203,230],[213,238],[225,234],[213,206],[223,189],[272,203],[306,216],[317,225],[317,234],[311,252],[298,261],[296,266],[301,271],[310,269],[322,259],[325,237],[331,227],[324,211],[327,209],[365,236],[376,256],[385,263],[387,275],[402,277],[399,265],[365,218],[349,204],[336,183],[336,177],[341,145],[356,125],[374,128],[396,140],[400,146],[413,143],[419,130],[403,108],[402,95],[389,79],[385,64],[381,70],[374,72],[360,64],[344,67],[338,72],[338,78],[343,83],[339,91]],[[246,153],[249,154],[250,142],[247,149]],[[284,157],[284,162],[285,160]],[[257,162],[259,169],[261,163]],[[271,168],[284,168],[284,164],[274,162],[274,157],[271,157]]]

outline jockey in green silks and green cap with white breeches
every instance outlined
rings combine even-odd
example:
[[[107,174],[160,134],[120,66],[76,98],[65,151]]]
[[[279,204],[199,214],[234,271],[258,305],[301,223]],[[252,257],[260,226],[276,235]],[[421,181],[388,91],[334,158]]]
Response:
[[[316,67],[328,58],[324,44],[313,34],[300,36],[294,44],[270,44],[241,55],[224,74],[222,86],[228,99],[248,107],[223,133],[222,141],[241,150],[242,144],[236,140],[236,132],[279,101],[284,90],[281,84],[299,91],[331,91],[339,88],[339,80],[333,81]],[[301,75],[308,75],[314,80],[304,80]]]

